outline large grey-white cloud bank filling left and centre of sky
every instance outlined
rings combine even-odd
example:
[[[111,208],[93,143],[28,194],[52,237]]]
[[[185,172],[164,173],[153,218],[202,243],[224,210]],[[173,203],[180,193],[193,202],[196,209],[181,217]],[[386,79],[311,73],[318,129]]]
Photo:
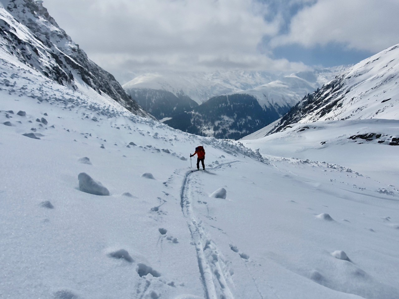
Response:
[[[43,5],[92,60],[117,76],[127,67],[304,67],[260,53],[262,38],[276,35],[281,20],[265,21],[268,6],[257,0],[48,0]]]

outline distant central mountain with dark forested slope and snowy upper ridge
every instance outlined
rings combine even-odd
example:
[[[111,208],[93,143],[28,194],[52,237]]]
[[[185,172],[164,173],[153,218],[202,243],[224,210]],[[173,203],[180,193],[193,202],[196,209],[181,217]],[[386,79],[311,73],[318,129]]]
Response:
[[[280,118],[340,70],[342,67],[295,73],[255,89],[215,96],[165,123],[193,134],[239,139]]]

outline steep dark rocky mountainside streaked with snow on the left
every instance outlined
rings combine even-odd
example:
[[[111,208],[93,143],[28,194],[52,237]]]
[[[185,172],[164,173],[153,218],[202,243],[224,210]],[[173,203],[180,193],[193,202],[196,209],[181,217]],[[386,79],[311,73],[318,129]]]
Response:
[[[93,63],[59,28],[42,2],[1,0],[2,51],[61,85],[82,91],[93,90],[116,100],[135,114],[149,116],[124,92],[113,75]]]

